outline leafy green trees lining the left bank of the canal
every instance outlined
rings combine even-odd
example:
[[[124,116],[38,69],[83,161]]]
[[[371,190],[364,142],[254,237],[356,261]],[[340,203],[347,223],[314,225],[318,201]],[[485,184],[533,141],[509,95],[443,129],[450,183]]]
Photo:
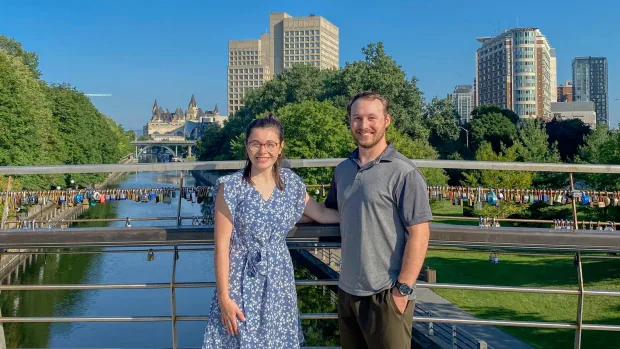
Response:
[[[101,114],[81,92],[39,80],[38,57],[0,35],[0,166],[115,163],[133,131]],[[26,189],[91,184],[105,174],[29,175]]]

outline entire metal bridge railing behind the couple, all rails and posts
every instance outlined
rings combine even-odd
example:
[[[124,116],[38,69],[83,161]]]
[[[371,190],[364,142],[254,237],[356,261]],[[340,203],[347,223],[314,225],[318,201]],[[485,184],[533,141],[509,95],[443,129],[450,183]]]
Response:
[[[287,160],[284,166],[291,168],[333,167],[344,159],[301,159]],[[576,164],[539,164],[514,162],[485,161],[449,161],[449,160],[413,160],[421,168],[444,168],[461,170],[516,170],[535,172],[568,173],[573,186],[573,173],[605,173],[620,174],[619,165],[576,165]],[[51,173],[99,173],[99,172],[166,172],[166,171],[218,171],[236,170],[244,166],[244,161],[212,161],[191,163],[155,163],[155,164],[113,164],[113,165],[77,165],[77,166],[22,166],[0,167],[0,175],[27,175]],[[180,172],[181,175],[183,172]],[[183,188],[183,179],[180,182]],[[574,222],[578,222],[575,201],[573,205]],[[0,231],[0,248],[84,248],[84,247],[150,247],[169,246],[173,251],[173,269],[170,283],[153,284],[116,284],[116,285],[2,285],[0,290],[53,290],[53,289],[170,289],[172,307],[171,316],[148,317],[0,317],[0,322],[153,322],[169,321],[172,324],[173,347],[177,347],[176,324],[178,321],[204,321],[206,316],[181,316],[176,313],[175,291],[178,288],[213,287],[213,282],[175,281],[176,260],[181,246],[213,244],[212,226],[183,226],[180,209],[177,214],[177,227],[125,227],[125,228],[70,228],[70,229],[34,229]],[[537,252],[574,252],[577,285],[574,289],[543,288],[543,287],[508,287],[493,285],[463,284],[420,284],[420,288],[458,289],[474,291],[520,292],[537,294],[563,294],[578,298],[575,319],[572,322],[543,321],[512,321],[493,319],[457,319],[444,317],[415,317],[416,322],[475,324],[516,326],[547,329],[574,329],[574,348],[581,348],[583,330],[620,331],[620,326],[583,323],[584,297],[587,296],[620,296],[620,292],[612,290],[586,290],[583,285],[582,256],[583,252],[616,253],[620,250],[620,234],[614,231],[580,230],[544,228],[500,228],[461,225],[431,225],[431,246],[450,246],[464,248],[503,249],[503,250],[535,250]],[[329,247],[320,243],[322,238],[337,238],[337,226],[299,225],[289,233],[291,248]],[[318,244],[318,245],[317,245]],[[334,247],[334,246],[331,246]],[[335,286],[333,280],[297,280],[297,285]],[[302,319],[336,319],[337,314],[301,314]]]

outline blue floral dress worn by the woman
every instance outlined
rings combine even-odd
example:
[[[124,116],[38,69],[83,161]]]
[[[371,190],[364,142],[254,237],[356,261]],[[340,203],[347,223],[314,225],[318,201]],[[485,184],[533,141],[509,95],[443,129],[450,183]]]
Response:
[[[306,186],[293,171],[281,169],[284,190],[274,188],[265,200],[242,173],[221,177],[216,188],[224,184],[233,217],[228,292],[246,321],[237,319],[239,334],[231,336],[214,293],[203,348],[299,348],[304,337],[286,236],[303,215]]]

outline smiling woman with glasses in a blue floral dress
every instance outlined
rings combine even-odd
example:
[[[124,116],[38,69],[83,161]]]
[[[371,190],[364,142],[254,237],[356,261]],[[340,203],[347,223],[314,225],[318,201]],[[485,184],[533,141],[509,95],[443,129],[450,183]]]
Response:
[[[247,127],[243,170],[221,177],[215,196],[216,293],[205,349],[299,348],[303,342],[286,235],[303,215],[338,223],[338,211],[281,168],[284,139],[274,116]]]

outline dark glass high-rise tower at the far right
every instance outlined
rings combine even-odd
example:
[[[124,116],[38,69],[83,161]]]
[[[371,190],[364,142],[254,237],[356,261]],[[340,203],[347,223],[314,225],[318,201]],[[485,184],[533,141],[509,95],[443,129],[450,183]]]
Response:
[[[594,102],[596,124],[609,127],[607,58],[575,57],[573,59],[573,99],[575,102]]]

